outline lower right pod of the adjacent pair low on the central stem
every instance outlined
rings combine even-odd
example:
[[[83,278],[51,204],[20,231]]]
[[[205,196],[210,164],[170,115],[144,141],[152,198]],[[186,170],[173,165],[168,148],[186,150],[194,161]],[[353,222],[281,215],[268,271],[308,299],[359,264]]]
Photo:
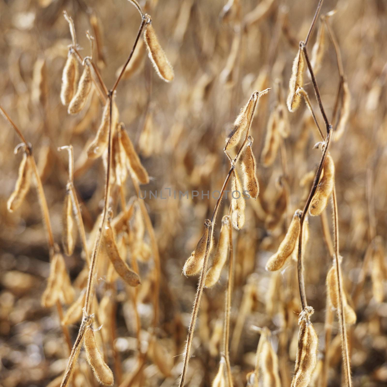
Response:
[[[205,275],[204,286],[206,288],[211,288],[211,286],[214,286],[217,283],[223,266],[226,263],[228,247],[230,244],[230,227],[231,224],[229,216],[223,216],[222,227],[220,229],[219,241],[216,247],[214,259],[212,260],[211,267],[208,269],[207,274]]]

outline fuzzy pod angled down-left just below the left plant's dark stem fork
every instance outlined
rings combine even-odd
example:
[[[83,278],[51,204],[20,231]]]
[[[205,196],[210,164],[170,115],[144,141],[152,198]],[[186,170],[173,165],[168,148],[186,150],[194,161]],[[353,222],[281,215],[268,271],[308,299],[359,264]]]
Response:
[[[87,148],[87,156],[91,159],[98,158],[108,147],[109,142],[109,120],[110,120],[110,102],[106,100],[105,107],[102,113],[101,125],[99,125],[95,139]],[[111,130],[114,130],[118,120],[118,110],[116,104],[113,102],[113,111],[111,115]]]

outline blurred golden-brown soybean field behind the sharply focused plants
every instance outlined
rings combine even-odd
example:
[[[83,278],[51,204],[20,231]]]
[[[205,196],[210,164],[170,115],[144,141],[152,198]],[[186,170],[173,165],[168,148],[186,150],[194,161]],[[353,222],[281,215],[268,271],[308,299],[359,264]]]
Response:
[[[296,313],[300,312],[296,265],[289,262],[279,274],[266,272],[264,266],[282,241],[294,211],[303,208],[311,180],[306,180],[306,187],[300,186],[300,181],[317,168],[320,159],[320,152],[312,149],[320,138],[303,102],[295,113],[287,112],[290,134],[279,140],[272,163],[264,166],[261,154],[269,116],[279,96],[286,98],[288,94],[298,42],[305,39],[317,1],[151,0],[141,5],[152,16],[152,25],[174,67],[175,79],[170,84],[159,79],[143,52],[136,71],[120,82],[116,104],[120,120],[125,123],[150,176],[149,184],[142,185],[141,192],[142,196],[146,195],[144,201],[158,241],[161,289],[156,336],[166,351],[165,357],[170,359],[170,369],[160,370],[163,367],[158,361],[149,358],[132,385],[172,386],[182,366],[180,354],[197,285],[197,277],[186,278],[182,267],[202,235],[203,221],[211,217],[216,200],[211,194],[209,198],[200,194],[179,198],[178,192],[207,193],[209,190],[212,193],[221,189],[229,170],[229,161],[223,152],[224,139],[251,93],[271,87],[259,101],[251,132],[260,195],[257,200],[247,200],[245,227],[238,232],[233,230],[235,274],[230,357],[234,385],[246,385],[246,374],[254,368],[259,340],[251,325],[267,326],[274,332],[272,345],[280,357],[281,384],[288,386],[298,334]],[[71,44],[63,10],[74,19],[82,57],[89,55],[86,31],[98,38],[98,45],[94,44],[94,62],[108,88],[130,53],[141,22],[137,10],[125,0],[0,2],[0,105],[33,146],[58,244],[62,238],[68,161],[67,154],[58,152],[57,147],[69,144],[74,147],[74,185],[88,238],[102,210],[105,174],[101,158],[89,161],[86,154],[101,121],[102,105],[98,96],[94,93],[89,97],[86,108],[75,116],[68,115],[60,103],[62,70]],[[387,382],[384,254],[387,4],[382,0],[325,0],[321,15],[331,10],[336,13],[329,17],[329,24],[341,50],[351,94],[345,132],[332,144],[330,152],[336,165],[344,284],[357,314],[356,324],[348,328],[353,385],[382,386]],[[320,24],[318,20],[310,38],[310,53]],[[39,73],[37,68],[42,61],[44,69]],[[43,74],[43,80],[39,74]],[[340,78],[327,31],[324,57],[316,79],[324,108],[331,117]],[[304,82],[324,132],[306,71]],[[50,264],[36,190],[31,188],[20,209],[14,213],[7,211],[7,200],[14,190],[22,156],[13,152],[20,142],[14,130],[3,119],[0,127],[0,384],[45,386],[62,375],[67,364],[67,347],[57,310],[44,308],[40,302]],[[157,197],[150,198],[150,191],[154,194],[157,191]],[[161,199],[161,192],[166,200]],[[127,179],[125,200],[134,196],[132,182]],[[119,200],[118,190],[113,187],[112,206],[118,208]],[[216,241],[220,217],[228,211],[228,206],[229,200],[224,199],[215,226]],[[328,205],[331,230],[330,214]],[[342,375],[336,319],[329,353],[325,351],[324,341],[325,277],[332,259],[324,243],[320,219],[310,218],[309,224],[306,292],[309,304],[315,308],[313,325],[319,335],[319,360],[329,357],[328,385],[334,386],[341,383]],[[374,269],[376,253],[370,249],[377,250],[377,236],[382,258]],[[149,245],[148,232],[143,238]],[[373,258],[365,263],[367,251]],[[65,258],[72,281],[79,278],[84,267],[81,252],[78,238],[74,253]],[[127,254],[129,259],[130,248]],[[138,290],[137,310],[144,346],[152,325],[153,268],[152,259],[139,260],[143,280]],[[104,294],[105,274],[103,270],[98,272],[99,300]],[[216,375],[226,282],[224,269],[219,283],[204,292],[187,385],[209,386]],[[358,295],[352,301],[351,295],[356,292]],[[136,370],[138,356],[131,295],[118,280],[115,348],[108,346],[105,358],[111,365],[112,353],[118,353],[121,380]],[[69,326],[72,342],[78,327],[79,323]],[[83,370],[86,365],[83,354],[79,363]],[[96,383],[90,370],[85,375],[80,385]],[[319,377],[317,373],[313,385],[319,385]]]

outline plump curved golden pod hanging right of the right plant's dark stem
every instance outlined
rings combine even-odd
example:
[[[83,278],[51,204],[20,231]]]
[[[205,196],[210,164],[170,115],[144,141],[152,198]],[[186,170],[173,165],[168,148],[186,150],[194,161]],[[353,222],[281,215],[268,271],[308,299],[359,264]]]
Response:
[[[318,216],[327,206],[330,194],[332,194],[335,180],[335,164],[330,154],[327,154],[324,163],[324,175],[320,179],[316,192],[310,202],[309,213]]]

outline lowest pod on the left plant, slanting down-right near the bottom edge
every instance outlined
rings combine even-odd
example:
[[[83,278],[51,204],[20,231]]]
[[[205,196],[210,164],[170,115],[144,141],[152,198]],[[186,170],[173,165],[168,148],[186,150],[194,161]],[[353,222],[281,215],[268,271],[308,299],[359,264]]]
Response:
[[[86,327],[83,342],[86,349],[87,362],[91,366],[98,382],[108,386],[113,385],[113,372],[111,372],[111,369],[103,360],[103,355],[99,351],[91,325]]]

